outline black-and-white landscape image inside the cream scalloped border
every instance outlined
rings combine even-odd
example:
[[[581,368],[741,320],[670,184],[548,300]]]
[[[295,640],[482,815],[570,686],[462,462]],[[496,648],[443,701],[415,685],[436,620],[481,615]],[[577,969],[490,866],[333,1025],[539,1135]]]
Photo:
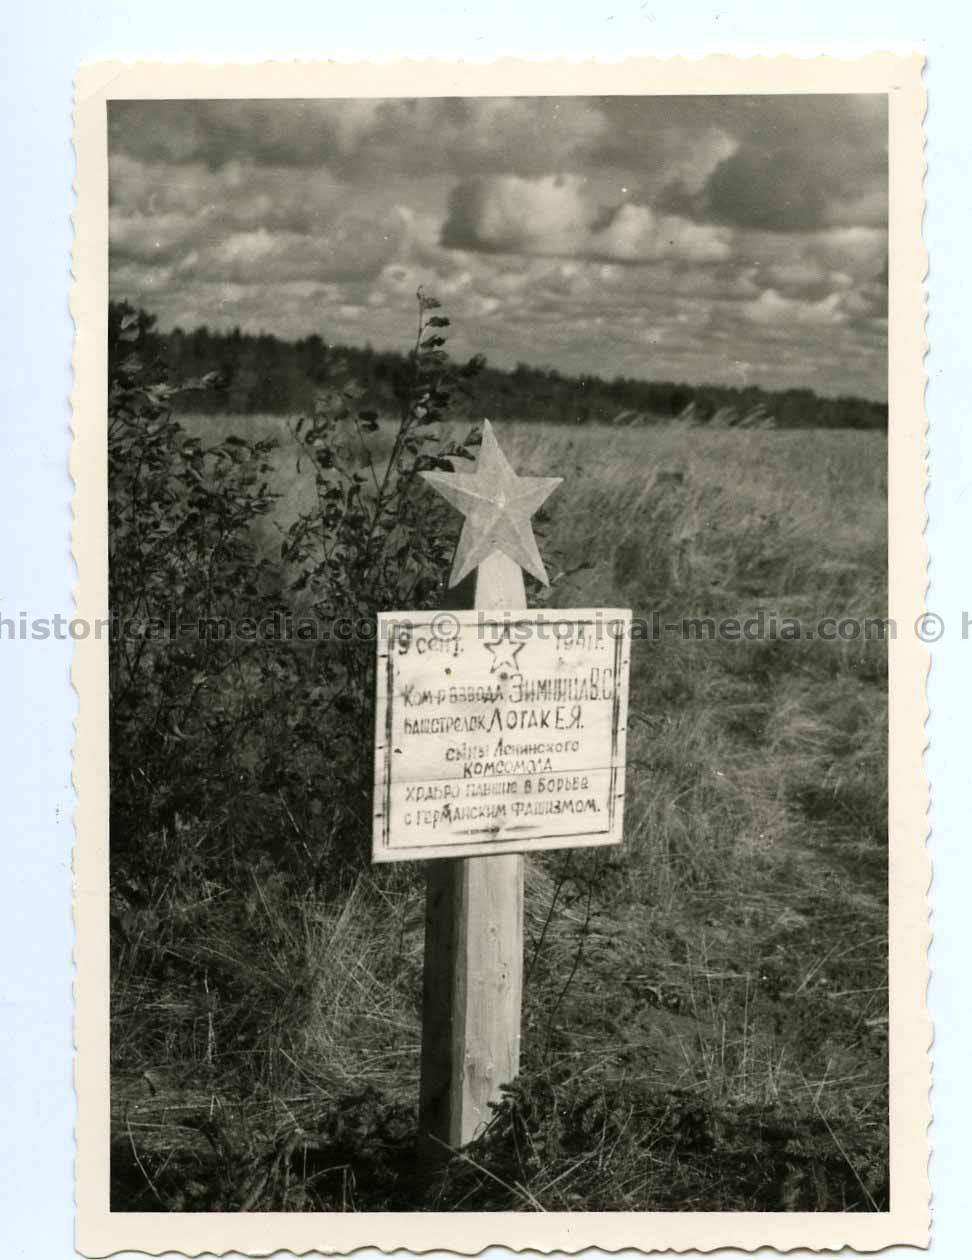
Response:
[[[103,110],[110,1213],[893,1212],[889,93]]]

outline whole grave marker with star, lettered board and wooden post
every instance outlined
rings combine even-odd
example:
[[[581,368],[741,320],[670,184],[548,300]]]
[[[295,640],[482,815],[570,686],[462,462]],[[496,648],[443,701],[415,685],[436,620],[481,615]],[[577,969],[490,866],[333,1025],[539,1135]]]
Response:
[[[420,1144],[470,1142],[519,1067],[523,853],[618,844],[625,610],[526,609],[546,582],[519,478],[485,421],[474,472],[425,472],[465,520],[458,611],[378,624],[376,862],[427,859]]]

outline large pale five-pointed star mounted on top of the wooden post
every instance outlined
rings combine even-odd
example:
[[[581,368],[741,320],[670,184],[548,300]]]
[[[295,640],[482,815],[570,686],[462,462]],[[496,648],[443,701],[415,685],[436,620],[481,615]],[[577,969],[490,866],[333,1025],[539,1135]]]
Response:
[[[422,476],[465,515],[450,586],[461,582],[495,551],[547,585],[529,518],[564,478],[517,476],[488,420],[483,421],[475,472],[422,472]]]

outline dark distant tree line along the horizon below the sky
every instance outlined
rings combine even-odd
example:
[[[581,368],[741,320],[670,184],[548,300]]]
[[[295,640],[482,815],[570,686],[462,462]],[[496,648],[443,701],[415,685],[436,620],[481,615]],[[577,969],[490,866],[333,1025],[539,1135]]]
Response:
[[[164,365],[169,379],[187,382],[213,373],[217,387],[180,396],[176,408],[212,413],[308,412],[323,393],[354,383],[367,406],[378,412],[397,407],[408,357],[369,345],[337,345],[318,334],[286,341],[270,333],[158,329],[154,315],[135,312],[129,302],[108,307],[108,344],[126,314],[137,314],[139,352]],[[692,386],[685,382],[567,375],[524,363],[512,370],[478,358],[469,373],[459,416],[475,420],[551,421],[555,423],[651,425],[691,416],[693,423],[745,422],[772,417],[777,428],[886,430],[888,404],[867,398],[824,398],[812,389],[761,389],[758,386]]]

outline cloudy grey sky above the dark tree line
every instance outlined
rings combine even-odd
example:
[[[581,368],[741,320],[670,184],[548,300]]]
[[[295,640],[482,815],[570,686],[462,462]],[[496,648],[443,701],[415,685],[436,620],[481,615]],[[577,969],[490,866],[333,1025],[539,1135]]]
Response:
[[[886,398],[877,96],[113,102],[111,291],[164,329]]]

